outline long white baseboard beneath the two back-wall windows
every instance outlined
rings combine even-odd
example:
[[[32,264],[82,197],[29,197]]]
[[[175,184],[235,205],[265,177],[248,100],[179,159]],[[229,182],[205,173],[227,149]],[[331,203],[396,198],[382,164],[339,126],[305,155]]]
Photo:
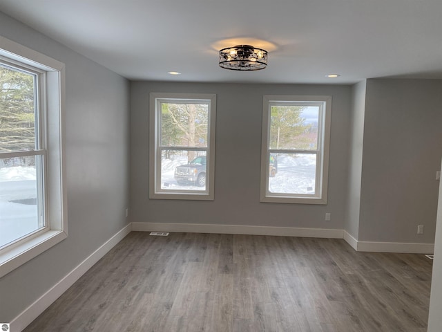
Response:
[[[273,235],[279,237],[319,237],[328,239],[343,238],[343,230],[247,225],[208,225],[200,223],[132,223],[132,230],[140,232],[189,232]]]

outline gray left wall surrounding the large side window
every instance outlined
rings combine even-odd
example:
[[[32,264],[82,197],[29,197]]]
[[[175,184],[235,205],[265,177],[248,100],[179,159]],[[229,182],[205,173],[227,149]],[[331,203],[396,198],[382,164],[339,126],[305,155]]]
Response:
[[[66,64],[69,234],[0,279],[10,322],[128,223],[129,84],[1,12],[0,34]]]

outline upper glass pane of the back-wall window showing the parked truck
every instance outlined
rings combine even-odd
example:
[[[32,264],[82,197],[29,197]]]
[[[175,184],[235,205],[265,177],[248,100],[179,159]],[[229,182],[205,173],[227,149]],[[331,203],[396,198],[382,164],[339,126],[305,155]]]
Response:
[[[161,103],[163,147],[206,147],[209,104]]]

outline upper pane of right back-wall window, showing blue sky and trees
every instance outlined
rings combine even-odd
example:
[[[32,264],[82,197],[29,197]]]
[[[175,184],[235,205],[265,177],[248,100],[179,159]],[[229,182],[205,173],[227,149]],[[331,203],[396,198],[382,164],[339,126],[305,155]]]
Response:
[[[271,149],[317,149],[319,107],[272,105]]]

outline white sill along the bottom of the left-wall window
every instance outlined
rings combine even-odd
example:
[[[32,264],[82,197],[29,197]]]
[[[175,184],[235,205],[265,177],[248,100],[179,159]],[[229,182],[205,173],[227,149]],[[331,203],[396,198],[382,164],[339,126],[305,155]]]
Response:
[[[49,230],[0,255],[0,278],[68,237],[63,230]]]

